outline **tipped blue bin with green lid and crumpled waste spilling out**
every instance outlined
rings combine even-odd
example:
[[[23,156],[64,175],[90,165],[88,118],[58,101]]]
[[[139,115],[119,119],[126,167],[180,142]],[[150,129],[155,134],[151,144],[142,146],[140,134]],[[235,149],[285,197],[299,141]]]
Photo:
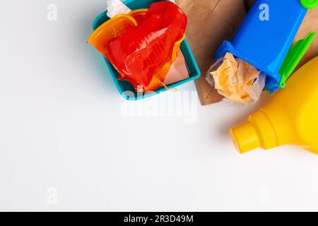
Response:
[[[252,98],[248,98],[250,95],[245,90],[260,81],[258,76],[254,81],[250,81],[249,74],[254,70],[259,71],[259,75],[266,76],[264,88],[269,93],[285,88],[285,81],[293,73],[316,35],[315,32],[310,32],[307,37],[292,46],[308,10],[304,2],[306,1],[255,1],[232,41],[224,41],[216,52],[216,59],[223,61],[220,65],[223,69],[221,72],[210,71],[207,79],[213,76],[214,80],[225,82],[215,83],[218,93],[235,102],[249,102]],[[264,9],[264,16],[260,13],[260,8]],[[228,57],[224,57],[226,55],[235,56],[236,61],[245,61],[245,64],[249,64],[249,69],[242,71],[238,70],[238,64],[228,64]],[[237,83],[240,82],[233,77],[242,79],[245,87],[237,88]],[[258,93],[255,95],[259,97]]]

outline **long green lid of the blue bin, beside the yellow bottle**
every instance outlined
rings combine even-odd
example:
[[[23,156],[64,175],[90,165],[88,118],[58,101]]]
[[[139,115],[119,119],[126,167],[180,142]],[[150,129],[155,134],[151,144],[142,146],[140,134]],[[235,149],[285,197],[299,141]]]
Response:
[[[279,74],[281,75],[281,83],[279,83],[280,88],[285,88],[285,82],[293,73],[302,57],[304,57],[307,49],[310,47],[310,44],[312,44],[312,41],[316,35],[316,32],[310,32],[305,38],[299,40],[293,44],[292,47],[290,47],[279,71]]]

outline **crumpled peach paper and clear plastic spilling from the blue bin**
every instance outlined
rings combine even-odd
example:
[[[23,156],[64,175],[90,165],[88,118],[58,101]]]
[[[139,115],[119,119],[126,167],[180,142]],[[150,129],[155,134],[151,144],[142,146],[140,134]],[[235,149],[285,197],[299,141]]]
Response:
[[[257,101],[265,87],[266,75],[242,59],[227,53],[211,66],[206,81],[220,95],[242,105]]]

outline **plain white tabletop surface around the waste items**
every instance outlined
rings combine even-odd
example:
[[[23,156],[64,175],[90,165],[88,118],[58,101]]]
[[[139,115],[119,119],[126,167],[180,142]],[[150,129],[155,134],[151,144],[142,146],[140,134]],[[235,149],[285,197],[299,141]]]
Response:
[[[57,21],[47,20],[50,3]],[[1,1],[0,210],[318,210],[316,155],[239,155],[230,141],[228,129],[264,101],[194,98],[192,124],[126,117],[104,60],[85,44],[105,5]]]

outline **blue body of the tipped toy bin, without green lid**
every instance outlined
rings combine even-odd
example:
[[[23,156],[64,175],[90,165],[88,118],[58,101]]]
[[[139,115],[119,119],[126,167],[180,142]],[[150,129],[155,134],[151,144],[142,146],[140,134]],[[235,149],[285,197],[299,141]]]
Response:
[[[230,52],[268,75],[265,88],[270,93],[278,90],[279,71],[306,13],[300,0],[255,1],[232,41],[218,49],[216,59]]]

